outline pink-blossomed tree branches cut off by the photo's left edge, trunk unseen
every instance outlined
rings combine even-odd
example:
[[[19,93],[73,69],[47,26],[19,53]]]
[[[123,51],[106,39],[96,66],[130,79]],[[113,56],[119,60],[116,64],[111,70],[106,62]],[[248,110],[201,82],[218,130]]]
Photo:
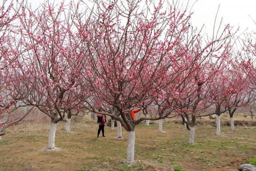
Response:
[[[0,136],[4,135],[4,129],[24,118],[12,114],[20,106],[17,104],[20,96],[12,90],[11,83],[18,83],[18,80],[14,80],[10,74],[13,73],[10,65],[16,65],[15,61],[22,53],[14,25],[22,4],[22,0],[16,1],[16,4],[10,0],[0,3]]]

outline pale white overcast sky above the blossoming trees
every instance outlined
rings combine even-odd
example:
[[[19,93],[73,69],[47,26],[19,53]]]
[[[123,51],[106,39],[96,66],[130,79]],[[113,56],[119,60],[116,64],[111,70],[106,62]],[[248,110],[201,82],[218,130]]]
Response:
[[[77,1],[75,0],[75,2]],[[186,4],[187,1],[184,0],[183,3]],[[44,0],[28,0],[28,2],[31,3],[33,8],[36,8]],[[55,0],[55,4],[60,2],[62,0]],[[68,3],[69,0],[64,0],[64,2]],[[256,21],[256,0],[189,0],[189,6],[192,7],[191,11],[194,12],[191,19],[192,25],[198,28],[204,25],[203,32],[211,34],[219,5],[217,23],[223,18],[223,24],[230,24],[230,26],[234,26],[234,29],[239,26],[239,33],[246,29],[249,32],[256,31],[256,24],[253,21]]]

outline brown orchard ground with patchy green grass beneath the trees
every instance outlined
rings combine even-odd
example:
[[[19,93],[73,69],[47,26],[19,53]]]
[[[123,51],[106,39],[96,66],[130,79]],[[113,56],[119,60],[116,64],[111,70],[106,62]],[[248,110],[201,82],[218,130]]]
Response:
[[[189,145],[189,131],[181,124],[163,122],[165,133],[158,133],[158,124],[139,124],[132,165],[123,163],[127,148],[124,129],[123,139],[117,140],[117,127],[111,131],[107,126],[107,137],[96,138],[97,123],[89,118],[71,122],[71,134],[65,134],[64,123],[60,123],[55,144],[62,149],[47,151],[49,127],[20,124],[7,130],[0,142],[0,170],[234,171],[256,156],[256,127],[236,126],[233,132],[222,126],[222,135],[216,136],[216,127],[197,125],[195,144]]]

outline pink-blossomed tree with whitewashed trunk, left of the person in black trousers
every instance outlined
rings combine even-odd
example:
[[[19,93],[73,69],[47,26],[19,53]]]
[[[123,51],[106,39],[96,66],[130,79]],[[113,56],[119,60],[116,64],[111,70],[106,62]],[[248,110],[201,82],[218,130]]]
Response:
[[[57,9],[58,7],[58,9]],[[79,69],[83,57],[75,32],[71,32],[71,7],[42,4],[36,11],[23,7],[20,15],[20,34],[22,44],[28,49],[22,55],[20,67],[22,82],[29,90],[23,99],[51,118],[48,149],[55,148],[57,123],[63,120],[65,112],[79,106],[71,96],[76,87],[76,77],[72,67]],[[68,8],[67,12],[65,8]],[[62,16],[65,16],[62,18]]]

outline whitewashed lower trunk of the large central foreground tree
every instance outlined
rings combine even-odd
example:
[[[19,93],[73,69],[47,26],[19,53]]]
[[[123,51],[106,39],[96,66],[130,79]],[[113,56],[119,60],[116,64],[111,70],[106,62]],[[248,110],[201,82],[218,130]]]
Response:
[[[128,131],[126,163],[133,163],[134,161],[134,145],[135,145],[135,131]]]

